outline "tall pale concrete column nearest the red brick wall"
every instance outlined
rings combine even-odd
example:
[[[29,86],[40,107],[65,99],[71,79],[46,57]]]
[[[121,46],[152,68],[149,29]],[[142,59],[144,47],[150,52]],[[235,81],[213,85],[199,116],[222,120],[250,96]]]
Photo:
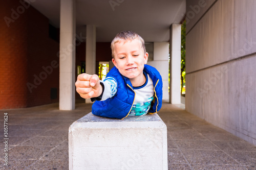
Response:
[[[75,109],[75,0],[60,1],[59,109]]]

